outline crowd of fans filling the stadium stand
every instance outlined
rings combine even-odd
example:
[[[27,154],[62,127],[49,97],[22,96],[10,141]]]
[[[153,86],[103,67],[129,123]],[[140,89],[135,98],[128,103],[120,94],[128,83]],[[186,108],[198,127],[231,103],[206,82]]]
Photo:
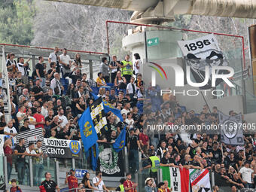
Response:
[[[110,62],[103,57],[98,78],[94,81],[81,72],[79,53],[75,54],[75,59],[71,59],[66,49],[61,54],[59,52],[59,48],[55,47],[47,62],[44,62],[43,56],[39,56],[31,77],[29,60],[24,62],[20,57],[16,62],[14,53],[8,54],[6,66],[11,88],[12,117],[8,122],[5,122],[3,111],[5,80],[0,75],[0,84],[3,87],[0,87],[0,134],[10,136],[4,146],[5,155],[8,157],[8,181],[14,167],[14,156],[19,184],[25,184],[24,180],[29,184],[29,178],[24,177],[29,175],[26,173],[26,157],[33,157],[37,162],[34,167],[34,185],[41,184],[43,174],[40,166],[44,157],[41,142],[31,143],[29,148],[25,148],[24,139],[20,139],[19,144],[13,146],[11,138],[19,132],[42,127],[45,138],[81,140],[78,118],[93,103],[91,93],[96,93],[120,109],[123,117],[123,122],[120,122],[114,114],[107,114],[108,131],[98,134],[99,142],[114,142],[126,127],[129,169],[130,172],[144,172],[149,175],[145,181],[146,191],[152,191],[154,187],[163,191],[164,186],[166,187],[166,183],[155,184],[155,158],[159,159],[160,166],[209,169],[215,172],[217,185],[225,184],[237,189],[255,187],[256,134],[245,134],[244,146],[232,146],[222,144],[219,135],[214,134],[194,133],[189,139],[184,139],[179,131],[148,130],[148,125],[154,123],[178,126],[218,124],[218,108],[214,107],[210,112],[208,106],[203,105],[203,110],[197,111],[197,114],[194,110],[186,111],[172,94],[160,96],[159,86],[144,84],[142,60],[138,53],[134,54],[133,62],[129,55],[122,61],[117,56],[112,56]],[[230,115],[236,113],[230,111]],[[140,170],[139,155],[142,155],[143,160],[143,168]],[[90,182],[87,183],[89,185]],[[131,189],[133,184],[129,188],[133,192]]]

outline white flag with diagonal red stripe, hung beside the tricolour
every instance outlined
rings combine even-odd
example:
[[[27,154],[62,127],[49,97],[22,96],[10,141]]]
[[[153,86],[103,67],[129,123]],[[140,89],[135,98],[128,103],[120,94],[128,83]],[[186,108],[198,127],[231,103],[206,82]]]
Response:
[[[192,192],[210,192],[211,183],[208,169],[189,169]]]

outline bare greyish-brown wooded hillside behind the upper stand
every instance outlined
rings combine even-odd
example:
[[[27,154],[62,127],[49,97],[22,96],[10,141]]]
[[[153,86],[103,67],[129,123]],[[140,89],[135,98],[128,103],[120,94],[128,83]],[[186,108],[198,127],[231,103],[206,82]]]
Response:
[[[32,45],[66,47],[68,49],[107,51],[106,20],[129,21],[130,11],[74,5],[59,2],[37,1],[35,38]],[[121,52],[121,39],[128,26],[110,24],[112,53]],[[119,48],[118,48],[119,47]]]

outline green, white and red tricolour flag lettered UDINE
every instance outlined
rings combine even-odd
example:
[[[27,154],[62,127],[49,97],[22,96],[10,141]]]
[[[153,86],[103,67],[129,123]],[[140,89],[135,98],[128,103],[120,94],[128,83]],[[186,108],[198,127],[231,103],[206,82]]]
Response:
[[[161,166],[163,181],[168,181],[172,192],[189,191],[189,171],[185,168]]]

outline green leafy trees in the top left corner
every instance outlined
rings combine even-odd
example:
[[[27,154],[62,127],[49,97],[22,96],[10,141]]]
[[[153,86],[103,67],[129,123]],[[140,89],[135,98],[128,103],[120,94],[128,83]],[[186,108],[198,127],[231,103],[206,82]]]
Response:
[[[30,44],[35,5],[29,0],[0,1],[0,42]]]

